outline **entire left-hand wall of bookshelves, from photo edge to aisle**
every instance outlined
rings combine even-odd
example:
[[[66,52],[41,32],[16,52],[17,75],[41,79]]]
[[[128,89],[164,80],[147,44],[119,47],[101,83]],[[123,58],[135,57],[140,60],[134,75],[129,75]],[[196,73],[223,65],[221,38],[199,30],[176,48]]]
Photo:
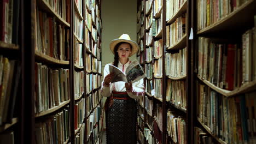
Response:
[[[102,143],[101,1],[1,1],[3,8],[1,140]]]

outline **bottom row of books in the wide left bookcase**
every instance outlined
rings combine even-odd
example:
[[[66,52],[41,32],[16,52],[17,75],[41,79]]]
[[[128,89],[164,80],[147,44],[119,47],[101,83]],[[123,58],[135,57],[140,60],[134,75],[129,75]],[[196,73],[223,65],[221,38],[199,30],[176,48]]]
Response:
[[[69,106],[43,122],[36,122],[35,140],[37,144],[64,143],[70,136]]]

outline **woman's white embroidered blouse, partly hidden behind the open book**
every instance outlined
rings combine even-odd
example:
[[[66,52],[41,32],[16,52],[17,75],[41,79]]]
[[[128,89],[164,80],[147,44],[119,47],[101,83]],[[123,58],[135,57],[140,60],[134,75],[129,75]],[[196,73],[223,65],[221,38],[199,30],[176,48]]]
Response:
[[[119,61],[118,63],[118,68],[123,70],[123,72],[126,70],[126,68],[130,65],[131,61],[128,61],[126,64],[121,64],[121,62]],[[106,77],[109,74],[109,64],[113,64],[113,63],[108,63],[105,65],[104,67],[104,77]],[[125,82],[123,81],[119,81],[119,82],[114,82],[114,83],[110,83],[109,86],[105,85],[104,80],[101,83],[101,95],[103,97],[109,97],[112,93],[112,91],[114,92],[126,92],[126,88],[125,88]],[[138,99],[139,95],[144,95],[145,93],[145,88],[144,88],[144,83],[143,83],[143,79],[136,81],[134,83],[132,83],[132,90],[131,91],[127,91],[127,94],[129,95],[129,97],[133,98],[133,99]]]

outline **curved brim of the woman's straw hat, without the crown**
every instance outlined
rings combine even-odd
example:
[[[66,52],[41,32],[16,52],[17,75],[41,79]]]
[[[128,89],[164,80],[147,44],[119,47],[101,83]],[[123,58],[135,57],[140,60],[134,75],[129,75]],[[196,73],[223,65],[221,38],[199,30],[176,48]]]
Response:
[[[139,49],[139,46],[138,46],[138,44],[135,41],[127,40],[127,39],[114,39],[109,44],[110,50],[112,51],[112,53],[114,55],[115,55],[115,52],[114,52],[115,45],[117,45],[118,43],[121,43],[121,42],[125,42],[125,43],[131,44],[132,52],[130,53],[129,57],[134,55],[138,51],[138,49]]]

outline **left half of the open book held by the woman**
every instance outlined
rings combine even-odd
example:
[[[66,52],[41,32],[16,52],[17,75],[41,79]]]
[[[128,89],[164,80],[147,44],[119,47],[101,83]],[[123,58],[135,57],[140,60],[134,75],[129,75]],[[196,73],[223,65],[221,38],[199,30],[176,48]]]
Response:
[[[109,64],[109,73],[114,73],[114,78],[111,83],[124,81],[127,82],[126,76],[119,68],[115,67],[114,65]]]

